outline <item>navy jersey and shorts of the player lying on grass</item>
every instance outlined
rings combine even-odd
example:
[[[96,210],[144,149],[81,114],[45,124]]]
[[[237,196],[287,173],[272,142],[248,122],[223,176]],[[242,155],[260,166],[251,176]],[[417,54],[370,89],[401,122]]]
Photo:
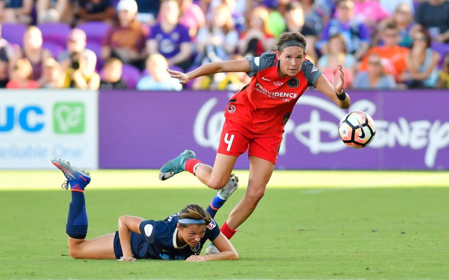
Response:
[[[188,244],[178,247],[176,237],[178,215],[174,214],[163,221],[146,220],[140,226],[141,234],[131,232],[131,250],[136,259],[185,260],[192,255],[200,255],[207,240],[213,241],[220,234],[214,220],[206,227],[206,233],[195,248]],[[123,256],[118,232],[115,235],[114,251],[117,259]]]

